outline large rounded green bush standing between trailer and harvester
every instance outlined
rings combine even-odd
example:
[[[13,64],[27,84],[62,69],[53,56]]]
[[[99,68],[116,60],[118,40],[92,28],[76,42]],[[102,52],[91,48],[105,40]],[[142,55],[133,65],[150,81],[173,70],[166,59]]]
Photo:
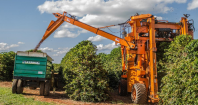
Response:
[[[71,99],[96,102],[109,97],[107,72],[90,41],[82,41],[70,49],[61,66],[66,93]]]

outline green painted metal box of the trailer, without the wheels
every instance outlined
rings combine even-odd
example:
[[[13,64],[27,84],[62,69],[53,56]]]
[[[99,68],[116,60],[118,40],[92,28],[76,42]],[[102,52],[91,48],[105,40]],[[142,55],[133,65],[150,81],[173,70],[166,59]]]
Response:
[[[15,56],[14,76],[51,78],[52,62],[47,57]]]

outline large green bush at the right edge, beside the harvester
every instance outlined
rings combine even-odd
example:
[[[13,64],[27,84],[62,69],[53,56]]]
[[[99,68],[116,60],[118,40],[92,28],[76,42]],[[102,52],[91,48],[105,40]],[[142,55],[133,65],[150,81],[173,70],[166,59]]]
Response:
[[[164,54],[160,97],[163,104],[198,104],[198,40],[180,35]]]

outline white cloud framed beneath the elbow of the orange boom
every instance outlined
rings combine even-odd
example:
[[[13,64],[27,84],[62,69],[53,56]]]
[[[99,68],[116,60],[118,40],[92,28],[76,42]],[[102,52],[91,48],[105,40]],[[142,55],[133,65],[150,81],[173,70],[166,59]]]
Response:
[[[77,30],[77,32],[76,32]],[[71,25],[69,23],[64,23],[59,29],[55,32],[54,38],[63,38],[70,37],[75,38],[81,33],[87,33],[88,31],[81,29],[77,26]]]

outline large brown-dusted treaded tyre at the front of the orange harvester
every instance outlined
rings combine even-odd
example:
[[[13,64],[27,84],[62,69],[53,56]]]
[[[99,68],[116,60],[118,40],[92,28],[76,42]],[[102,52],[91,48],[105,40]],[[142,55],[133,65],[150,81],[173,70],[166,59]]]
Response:
[[[147,92],[144,84],[136,83],[133,85],[131,100],[135,104],[145,104],[147,102]]]

